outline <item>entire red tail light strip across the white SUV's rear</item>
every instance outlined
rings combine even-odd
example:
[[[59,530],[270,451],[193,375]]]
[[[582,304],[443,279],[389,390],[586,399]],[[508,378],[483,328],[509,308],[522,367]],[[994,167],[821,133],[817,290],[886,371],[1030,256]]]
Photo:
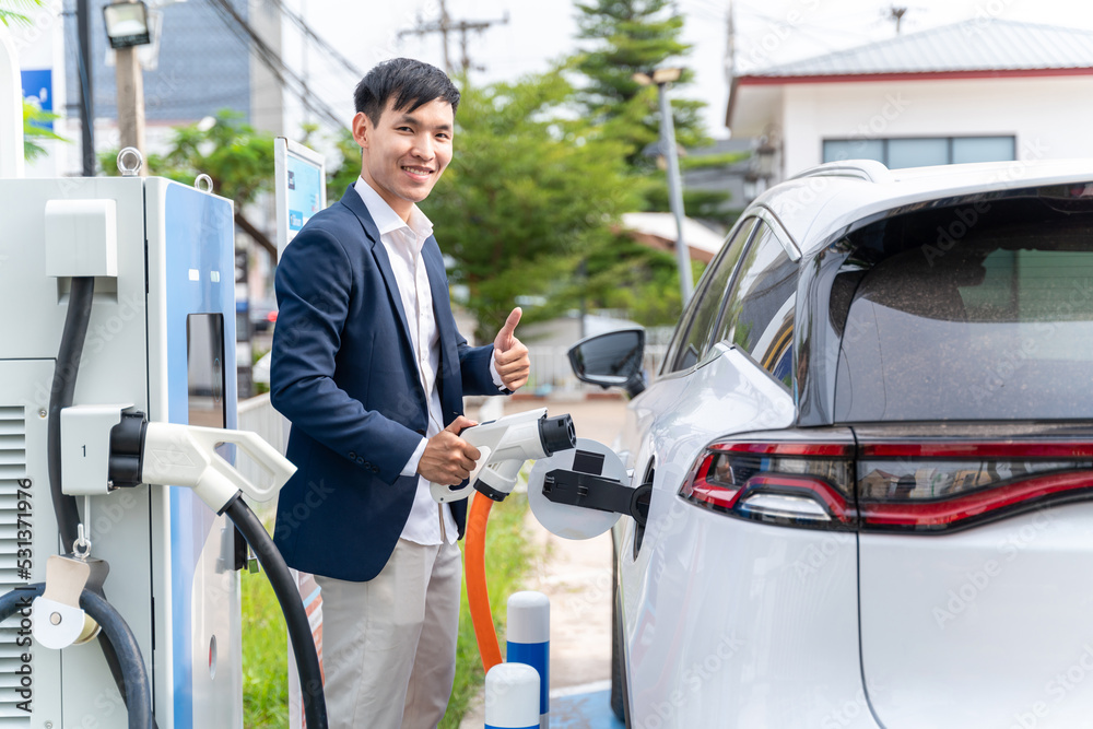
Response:
[[[1088,443],[855,445],[847,434],[787,431],[718,440],[698,457],[680,496],[755,521],[921,533],[1093,498]]]

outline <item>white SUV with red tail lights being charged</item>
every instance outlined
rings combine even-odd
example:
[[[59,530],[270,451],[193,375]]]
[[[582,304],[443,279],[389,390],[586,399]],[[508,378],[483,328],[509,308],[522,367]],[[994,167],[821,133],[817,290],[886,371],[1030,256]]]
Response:
[[[571,352],[636,395],[653,486],[614,532],[630,727],[1090,726],[1093,161],[811,169],[647,389],[640,349]]]

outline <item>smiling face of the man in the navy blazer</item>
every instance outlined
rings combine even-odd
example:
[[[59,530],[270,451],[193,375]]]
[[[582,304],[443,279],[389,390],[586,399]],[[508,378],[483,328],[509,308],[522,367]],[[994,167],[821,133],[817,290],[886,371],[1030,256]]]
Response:
[[[353,117],[353,138],[364,150],[361,176],[407,220],[451,161],[455,114],[439,98],[413,111],[392,105],[388,101],[376,125],[365,114]]]

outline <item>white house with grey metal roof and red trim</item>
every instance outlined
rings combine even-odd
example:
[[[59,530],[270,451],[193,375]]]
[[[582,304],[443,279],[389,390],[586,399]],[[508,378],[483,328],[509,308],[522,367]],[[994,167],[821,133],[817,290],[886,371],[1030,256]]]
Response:
[[[1093,32],[978,17],[737,75],[726,126],[777,183],[820,164],[890,168],[1093,157]]]

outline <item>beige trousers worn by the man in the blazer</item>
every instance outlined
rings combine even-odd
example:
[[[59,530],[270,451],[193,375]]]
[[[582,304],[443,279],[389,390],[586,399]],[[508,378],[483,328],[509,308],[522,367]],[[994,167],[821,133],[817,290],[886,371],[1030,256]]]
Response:
[[[400,539],[367,583],[316,575],[330,729],[432,729],[456,675],[459,548]]]

